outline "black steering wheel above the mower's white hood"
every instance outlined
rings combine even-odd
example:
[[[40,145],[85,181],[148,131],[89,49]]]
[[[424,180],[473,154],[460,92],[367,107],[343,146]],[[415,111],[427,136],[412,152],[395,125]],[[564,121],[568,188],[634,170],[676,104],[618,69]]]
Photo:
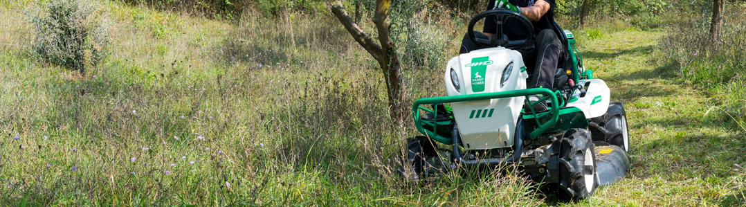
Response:
[[[477,24],[479,20],[485,19],[486,21],[491,19],[495,21],[497,24],[497,31],[494,35],[492,35],[492,38],[484,39],[480,37],[474,37],[474,24]],[[518,22],[521,22],[528,30],[528,36],[524,40],[508,40],[507,37],[505,37],[504,34],[504,28],[505,21],[507,19],[514,18],[517,19]],[[516,28],[511,28],[516,29]],[[519,48],[522,46],[528,45],[531,41],[533,41],[533,25],[531,22],[526,19],[525,16],[522,16],[518,13],[515,13],[511,10],[505,10],[503,8],[498,8],[494,10],[486,10],[483,13],[477,14],[477,16],[474,16],[474,18],[471,18],[471,21],[468,22],[468,37],[471,39],[472,42],[477,43],[478,45],[482,46],[489,46],[489,47],[495,47],[495,46],[502,46],[505,48]]]

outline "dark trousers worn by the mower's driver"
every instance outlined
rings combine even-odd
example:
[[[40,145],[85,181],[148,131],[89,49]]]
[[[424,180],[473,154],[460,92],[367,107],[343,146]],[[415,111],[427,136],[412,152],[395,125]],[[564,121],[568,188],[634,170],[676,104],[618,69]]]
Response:
[[[489,39],[489,37],[481,32],[474,32],[474,36]],[[521,52],[521,56],[523,56],[527,71],[533,74],[533,80],[530,80],[527,87],[552,89],[554,72],[557,72],[557,64],[559,64],[560,58],[564,57],[565,53],[562,46],[562,41],[557,37],[557,33],[554,33],[551,29],[545,29],[536,35],[533,43],[529,43],[524,48],[518,49],[518,52]],[[484,48],[486,46],[480,46],[472,42],[467,34],[464,35],[461,42],[460,53],[465,54],[472,50]]]

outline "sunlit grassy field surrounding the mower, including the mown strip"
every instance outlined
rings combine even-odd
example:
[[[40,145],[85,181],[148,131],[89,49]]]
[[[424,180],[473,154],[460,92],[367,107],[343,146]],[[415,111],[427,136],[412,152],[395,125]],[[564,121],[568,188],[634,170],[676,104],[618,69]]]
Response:
[[[732,170],[746,125],[659,60],[662,29],[574,31],[627,108],[633,169],[558,203],[510,173],[404,182],[416,130],[387,121],[377,64],[328,13],[225,21],[106,1],[110,55],[82,76],[34,57],[31,6],[0,3],[2,206],[746,206]],[[457,54],[466,19],[433,16]],[[441,73],[404,71],[407,99],[443,96]]]

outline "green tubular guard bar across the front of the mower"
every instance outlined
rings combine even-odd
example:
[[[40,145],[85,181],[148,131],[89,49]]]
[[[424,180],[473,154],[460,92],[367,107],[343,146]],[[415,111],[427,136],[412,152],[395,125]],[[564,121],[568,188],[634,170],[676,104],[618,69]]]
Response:
[[[441,96],[441,97],[430,97],[430,98],[422,98],[417,99],[414,104],[412,105],[412,111],[413,111],[413,117],[415,120],[415,126],[417,127],[417,131],[422,133],[422,135],[427,135],[427,137],[438,141],[439,143],[445,143],[445,144],[452,144],[453,138],[445,138],[441,135],[438,135],[437,132],[430,131],[424,129],[424,125],[432,126],[433,130],[437,130],[437,127],[439,124],[436,121],[426,121],[420,119],[420,110],[427,111],[433,114],[437,114],[437,108],[434,108],[433,110],[430,110],[428,108],[424,108],[421,105],[432,105],[432,104],[439,104],[439,103],[452,103],[452,102],[468,102],[468,101],[477,101],[477,100],[488,100],[488,99],[503,99],[503,98],[510,98],[510,97],[517,97],[517,96],[530,96],[530,95],[543,95],[544,98],[539,99],[539,101],[536,102],[530,102],[529,105],[532,107],[529,107],[531,111],[533,112],[533,105],[538,104],[539,102],[551,100],[551,108],[549,111],[540,113],[536,115],[536,118],[533,120],[536,121],[536,129],[534,129],[530,134],[528,135],[529,138],[536,138],[539,137],[539,135],[542,135],[547,129],[551,129],[555,123],[557,123],[557,119],[559,117],[559,111],[560,111],[560,105],[565,105],[564,100],[562,100],[562,103],[558,102],[557,100],[557,93],[559,92],[552,92],[549,89],[546,88],[529,88],[524,90],[510,90],[510,91],[503,91],[503,92],[495,92],[495,93],[477,93],[477,94],[469,94],[469,95],[459,95],[459,96]],[[528,99],[526,99],[528,101]],[[532,113],[533,114],[533,113]],[[548,119],[545,123],[539,123],[539,120],[541,120],[542,117],[551,116],[550,119]]]

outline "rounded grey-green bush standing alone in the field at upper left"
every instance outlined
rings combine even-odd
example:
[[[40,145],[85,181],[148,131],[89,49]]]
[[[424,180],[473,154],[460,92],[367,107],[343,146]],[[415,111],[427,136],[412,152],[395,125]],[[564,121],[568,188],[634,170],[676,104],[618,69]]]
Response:
[[[83,0],[48,1],[29,12],[34,25],[34,52],[44,61],[63,67],[94,67],[106,55],[107,27]]]

